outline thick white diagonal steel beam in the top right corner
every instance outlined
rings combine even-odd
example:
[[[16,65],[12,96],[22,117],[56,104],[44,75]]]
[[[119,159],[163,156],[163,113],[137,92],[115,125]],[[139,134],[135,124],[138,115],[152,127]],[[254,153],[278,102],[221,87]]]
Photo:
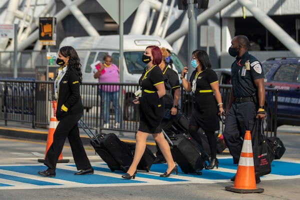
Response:
[[[250,0],[237,0],[241,5],[245,6],[253,16],[268,29],[286,48],[293,52],[296,56],[300,56],[300,45],[292,39],[277,23],[275,23],[268,15],[263,13]]]

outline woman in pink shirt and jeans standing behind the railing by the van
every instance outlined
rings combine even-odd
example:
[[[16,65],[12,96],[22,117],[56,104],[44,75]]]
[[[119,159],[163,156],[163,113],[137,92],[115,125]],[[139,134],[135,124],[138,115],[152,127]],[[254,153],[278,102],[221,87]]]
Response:
[[[120,82],[119,81],[119,69],[111,63],[111,56],[106,54],[103,57],[104,64],[100,64],[98,71],[94,73],[94,78],[98,78],[99,83],[102,82]],[[115,110],[115,124],[114,127],[119,127],[118,109],[119,109],[119,85],[99,85],[99,94],[101,101],[103,102],[103,128],[109,128],[109,104],[112,101],[113,108]]]

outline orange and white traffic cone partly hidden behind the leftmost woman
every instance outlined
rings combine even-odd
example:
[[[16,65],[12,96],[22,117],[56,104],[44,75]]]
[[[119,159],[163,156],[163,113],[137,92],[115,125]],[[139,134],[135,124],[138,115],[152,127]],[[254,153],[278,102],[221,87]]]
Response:
[[[56,111],[55,111],[56,110],[56,100],[52,100],[51,104],[52,104],[52,111],[51,111],[51,117],[50,117],[50,123],[49,123],[45,157],[46,157],[49,147],[51,146],[51,144],[53,142],[53,134],[54,134],[55,128],[58,124],[58,121],[56,119]],[[44,159],[37,159],[37,161],[44,162]],[[62,153],[60,153],[57,162],[69,162],[69,159],[63,159]]]

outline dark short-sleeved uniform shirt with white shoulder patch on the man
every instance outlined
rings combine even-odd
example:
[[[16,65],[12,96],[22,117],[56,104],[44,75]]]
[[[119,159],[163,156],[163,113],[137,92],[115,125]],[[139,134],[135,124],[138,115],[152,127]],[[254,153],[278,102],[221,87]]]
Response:
[[[249,61],[249,70],[245,70],[245,62]],[[243,75],[243,72],[245,74]],[[257,93],[257,87],[254,84],[255,79],[263,78],[261,63],[251,54],[245,52],[241,57],[231,64],[231,83],[233,96],[249,97]]]

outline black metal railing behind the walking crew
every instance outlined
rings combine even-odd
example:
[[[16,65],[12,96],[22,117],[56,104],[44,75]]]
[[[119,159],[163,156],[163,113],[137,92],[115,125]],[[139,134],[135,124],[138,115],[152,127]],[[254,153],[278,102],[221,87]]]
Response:
[[[101,107],[107,99],[101,99],[98,88],[103,86],[119,86],[119,127],[114,127],[115,112],[112,104],[109,106],[109,127],[103,127],[103,115]],[[224,108],[229,100],[231,85],[219,85]],[[0,120],[20,121],[27,123],[29,127],[44,127],[49,124],[51,100],[54,100],[53,81],[41,80],[15,80],[0,79]],[[82,83],[80,93],[84,105],[83,120],[86,124],[100,132],[105,129],[121,132],[136,132],[139,122],[138,105],[132,103],[133,92],[139,88],[138,84],[129,83]],[[101,91],[100,91],[101,92]],[[267,134],[276,135],[277,113],[277,89],[266,88],[267,118],[264,120]],[[181,87],[179,101],[180,109],[187,116],[191,115],[193,101],[192,95]],[[222,123],[219,132],[222,132]],[[268,135],[269,136],[269,135]]]

